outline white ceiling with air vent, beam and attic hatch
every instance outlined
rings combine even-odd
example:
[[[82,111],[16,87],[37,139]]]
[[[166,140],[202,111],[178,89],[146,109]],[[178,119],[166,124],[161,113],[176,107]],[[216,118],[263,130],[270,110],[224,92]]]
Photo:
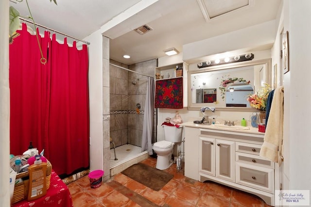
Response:
[[[28,16],[26,0],[11,0]],[[74,3],[73,3],[74,2]],[[282,0],[28,0],[36,23],[83,39],[101,30],[110,58],[135,64],[165,56],[163,50],[276,19]],[[230,3],[233,3],[231,5]],[[243,6],[244,4],[250,4]],[[147,8],[144,8],[148,6]],[[238,9],[236,9],[238,8]],[[232,11],[231,11],[232,10]],[[132,14],[129,16],[129,14]],[[124,16],[128,15],[124,18]],[[214,17],[215,16],[215,17]],[[120,19],[123,18],[123,21]],[[146,24],[153,30],[139,34]],[[92,43],[91,43],[92,44]],[[130,59],[122,56],[128,54]]]

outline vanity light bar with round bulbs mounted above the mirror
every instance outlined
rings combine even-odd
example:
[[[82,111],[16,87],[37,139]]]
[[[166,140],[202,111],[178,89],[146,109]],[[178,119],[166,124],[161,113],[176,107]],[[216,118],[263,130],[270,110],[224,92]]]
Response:
[[[198,64],[198,68],[216,66],[221,64],[238,63],[244,61],[251,61],[254,59],[253,53],[247,53],[244,55],[236,55],[233,57],[226,57],[224,59],[208,60],[206,62],[201,62]]]

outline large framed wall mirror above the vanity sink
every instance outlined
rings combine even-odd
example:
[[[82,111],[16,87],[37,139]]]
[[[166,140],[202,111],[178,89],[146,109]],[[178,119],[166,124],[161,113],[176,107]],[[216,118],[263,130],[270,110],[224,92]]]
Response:
[[[271,59],[205,67],[188,72],[188,109],[256,111],[246,96],[271,85]]]

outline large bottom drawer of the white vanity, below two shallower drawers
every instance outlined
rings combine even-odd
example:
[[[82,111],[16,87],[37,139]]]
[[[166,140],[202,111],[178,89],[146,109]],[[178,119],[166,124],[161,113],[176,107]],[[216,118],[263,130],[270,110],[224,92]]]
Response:
[[[236,183],[274,193],[274,169],[236,162]]]

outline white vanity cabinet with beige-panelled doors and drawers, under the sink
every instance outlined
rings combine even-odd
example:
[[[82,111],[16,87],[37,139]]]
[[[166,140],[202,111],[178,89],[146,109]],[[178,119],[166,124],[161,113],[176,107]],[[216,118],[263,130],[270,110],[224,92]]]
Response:
[[[256,128],[242,131],[190,122],[182,125],[185,176],[249,192],[275,205],[278,166],[259,156],[263,133]]]

